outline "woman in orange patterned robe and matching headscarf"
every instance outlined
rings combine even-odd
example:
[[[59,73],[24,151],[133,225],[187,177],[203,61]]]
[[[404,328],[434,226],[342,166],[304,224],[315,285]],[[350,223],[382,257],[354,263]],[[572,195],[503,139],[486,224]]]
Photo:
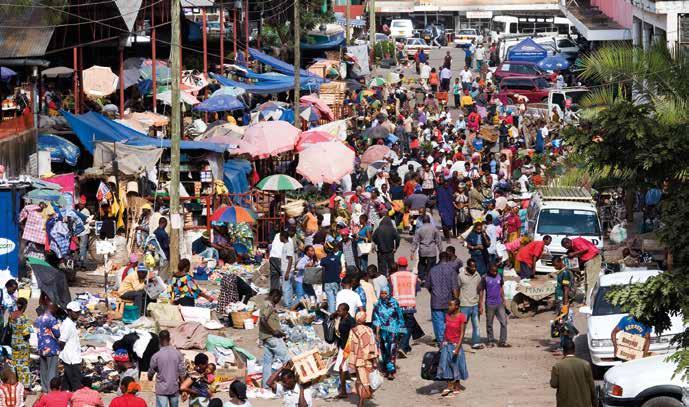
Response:
[[[366,313],[357,312],[356,326],[349,333],[350,355],[349,370],[356,372],[356,392],[359,395],[359,407],[373,397],[369,375],[378,367],[378,347],[373,330],[366,326]]]

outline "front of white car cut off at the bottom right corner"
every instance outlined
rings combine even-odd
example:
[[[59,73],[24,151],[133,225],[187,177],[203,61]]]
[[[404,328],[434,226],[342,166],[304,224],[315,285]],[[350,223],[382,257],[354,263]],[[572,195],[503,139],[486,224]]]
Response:
[[[689,387],[677,364],[666,355],[617,365],[605,373],[599,400],[603,407],[682,407],[682,388]]]

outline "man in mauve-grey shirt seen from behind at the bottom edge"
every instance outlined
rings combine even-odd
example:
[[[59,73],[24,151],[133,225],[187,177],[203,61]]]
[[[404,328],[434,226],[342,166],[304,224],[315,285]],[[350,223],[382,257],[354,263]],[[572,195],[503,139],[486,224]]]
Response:
[[[160,350],[151,357],[148,380],[156,379],[156,406],[179,406],[179,384],[187,374],[184,356],[170,345],[170,332],[166,329],[158,334]]]

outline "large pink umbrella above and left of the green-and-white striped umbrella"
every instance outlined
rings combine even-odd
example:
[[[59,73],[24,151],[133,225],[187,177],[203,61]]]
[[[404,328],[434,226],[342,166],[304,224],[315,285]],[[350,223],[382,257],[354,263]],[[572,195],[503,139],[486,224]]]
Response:
[[[278,155],[294,149],[300,132],[286,121],[258,122],[246,129],[239,148],[253,157]]]

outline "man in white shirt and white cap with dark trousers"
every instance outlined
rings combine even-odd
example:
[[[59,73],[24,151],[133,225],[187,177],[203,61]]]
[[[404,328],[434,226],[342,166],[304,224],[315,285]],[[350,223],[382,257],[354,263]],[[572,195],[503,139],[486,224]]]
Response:
[[[78,301],[67,304],[67,318],[60,325],[60,360],[64,366],[62,390],[76,391],[81,386],[81,344],[74,321],[79,318],[81,305]]]

